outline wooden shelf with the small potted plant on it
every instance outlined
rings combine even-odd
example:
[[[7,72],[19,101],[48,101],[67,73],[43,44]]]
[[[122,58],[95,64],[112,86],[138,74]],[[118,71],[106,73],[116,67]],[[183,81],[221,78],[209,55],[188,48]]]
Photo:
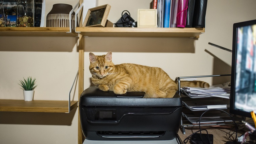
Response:
[[[77,101],[70,101],[70,110],[77,107]],[[61,100],[14,100],[0,99],[0,111],[4,112],[58,112],[68,113],[68,101]]]

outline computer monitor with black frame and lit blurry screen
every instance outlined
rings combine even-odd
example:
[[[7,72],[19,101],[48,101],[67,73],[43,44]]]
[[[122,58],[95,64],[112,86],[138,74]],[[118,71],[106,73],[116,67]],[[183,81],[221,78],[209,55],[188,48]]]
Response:
[[[234,23],[230,113],[256,113],[256,20]]]

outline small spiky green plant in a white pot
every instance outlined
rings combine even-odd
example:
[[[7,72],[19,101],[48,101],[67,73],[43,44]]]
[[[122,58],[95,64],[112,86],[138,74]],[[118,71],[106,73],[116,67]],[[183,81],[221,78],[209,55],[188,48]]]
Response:
[[[21,89],[23,89],[23,95],[24,95],[24,100],[25,101],[32,101],[34,97],[34,89],[36,88],[37,85],[35,85],[35,78],[32,80],[31,77],[28,77],[27,80],[23,78],[24,81],[20,80],[20,86],[22,86]]]

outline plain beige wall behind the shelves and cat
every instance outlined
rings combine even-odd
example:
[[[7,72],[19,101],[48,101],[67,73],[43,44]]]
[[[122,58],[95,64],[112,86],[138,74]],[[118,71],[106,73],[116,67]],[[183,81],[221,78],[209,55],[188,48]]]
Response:
[[[98,0],[110,4],[108,20],[115,23],[123,10],[137,21],[137,9],[149,8],[151,0]],[[75,0],[46,0],[45,15],[55,3],[75,5]],[[172,79],[230,73],[231,53],[208,42],[232,48],[232,25],[256,19],[255,0],[209,0],[206,32],[198,40],[187,38],[85,38],[85,84],[90,83],[89,52],[113,52],[113,62],[157,66]],[[0,99],[23,99],[18,85],[22,77],[37,79],[36,100],[67,100],[78,70],[76,38],[1,37]],[[5,48],[3,48],[5,47]],[[8,50],[6,50],[6,47]],[[203,80],[213,84],[220,81]],[[224,79],[228,81],[229,78]],[[75,93],[74,100],[78,100]],[[0,112],[0,144],[77,143],[77,109],[70,114]]]

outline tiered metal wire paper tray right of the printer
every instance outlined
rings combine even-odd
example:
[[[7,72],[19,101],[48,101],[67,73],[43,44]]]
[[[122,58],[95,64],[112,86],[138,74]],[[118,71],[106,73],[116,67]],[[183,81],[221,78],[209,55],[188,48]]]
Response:
[[[181,118],[181,128],[183,133],[185,134],[185,128],[188,127],[198,127],[199,126],[199,119],[200,116],[209,109],[201,109],[195,110],[191,109],[191,105],[193,101],[197,101],[198,103],[202,102],[209,102],[210,105],[215,104],[227,104],[226,108],[216,108],[212,109],[213,111],[209,111],[200,119],[200,126],[221,126],[221,125],[233,125],[233,121],[236,124],[241,124],[245,117],[238,117],[231,115],[231,117],[226,114],[225,112],[229,113],[229,99],[225,98],[218,98],[218,97],[190,97],[185,91],[183,91],[180,87],[180,79],[182,78],[200,78],[200,77],[218,77],[218,76],[230,76],[227,75],[208,75],[208,76],[192,76],[192,77],[177,77],[176,80],[178,81],[179,91],[178,93],[182,97],[183,102],[183,110],[182,110],[182,118]],[[222,110],[222,111],[218,111]],[[225,112],[223,112],[225,111]]]

